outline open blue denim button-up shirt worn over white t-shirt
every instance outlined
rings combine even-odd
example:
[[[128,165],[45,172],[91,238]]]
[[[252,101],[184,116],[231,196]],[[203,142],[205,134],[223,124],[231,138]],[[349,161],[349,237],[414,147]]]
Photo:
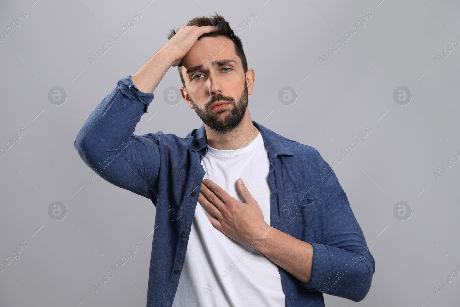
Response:
[[[139,91],[130,75],[120,79],[87,118],[75,149],[102,178],[155,205],[147,307],[168,307],[184,264],[207,142],[204,125],[184,138],[133,134],[153,97]],[[333,170],[315,148],[253,124],[270,156],[270,226],[313,246],[308,284],[278,266],[287,306],[324,306],[323,292],[361,301],[371,286],[374,257]]]

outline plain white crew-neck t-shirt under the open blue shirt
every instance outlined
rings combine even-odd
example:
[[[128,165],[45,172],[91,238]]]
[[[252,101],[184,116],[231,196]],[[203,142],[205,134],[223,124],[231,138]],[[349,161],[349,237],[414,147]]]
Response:
[[[218,150],[208,145],[201,165],[210,179],[244,202],[236,187],[242,178],[270,225],[270,167],[261,133],[247,146]],[[206,213],[205,213],[206,212]],[[197,203],[173,307],[285,307],[278,267],[251,246],[238,243],[215,228]]]

